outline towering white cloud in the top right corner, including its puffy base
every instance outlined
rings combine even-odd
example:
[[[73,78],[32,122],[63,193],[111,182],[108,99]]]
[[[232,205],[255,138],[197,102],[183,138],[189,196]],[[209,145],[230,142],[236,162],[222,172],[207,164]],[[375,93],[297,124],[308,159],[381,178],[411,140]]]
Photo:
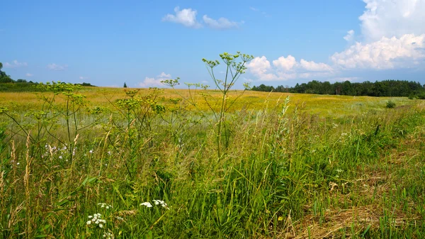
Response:
[[[425,60],[425,0],[363,0],[362,42],[342,52],[331,61],[341,68],[373,70],[418,67]],[[344,37],[351,40],[348,31]]]

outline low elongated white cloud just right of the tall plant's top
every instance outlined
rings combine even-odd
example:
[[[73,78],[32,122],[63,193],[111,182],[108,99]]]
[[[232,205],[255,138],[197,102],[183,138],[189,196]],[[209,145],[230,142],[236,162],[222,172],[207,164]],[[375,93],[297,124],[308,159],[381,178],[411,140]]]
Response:
[[[308,79],[312,77],[327,77],[334,74],[331,66],[325,63],[309,62],[301,59],[300,62],[295,57],[278,57],[273,60],[273,66],[265,56],[255,57],[246,67],[249,72],[258,77],[261,81],[289,80],[289,79]]]

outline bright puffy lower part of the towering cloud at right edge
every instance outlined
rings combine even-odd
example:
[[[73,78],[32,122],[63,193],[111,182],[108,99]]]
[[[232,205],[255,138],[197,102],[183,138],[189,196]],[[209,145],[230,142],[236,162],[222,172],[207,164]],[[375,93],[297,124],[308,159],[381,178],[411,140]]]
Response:
[[[331,56],[332,62],[344,68],[394,69],[412,67],[425,59],[425,34],[406,34],[400,38],[382,37],[373,43],[356,43]],[[417,64],[417,63],[416,63]]]

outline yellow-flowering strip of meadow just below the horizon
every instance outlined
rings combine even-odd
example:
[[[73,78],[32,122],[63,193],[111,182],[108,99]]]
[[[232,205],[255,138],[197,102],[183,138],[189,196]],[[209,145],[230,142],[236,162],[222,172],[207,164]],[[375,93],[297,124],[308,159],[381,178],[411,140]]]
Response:
[[[79,94],[86,96],[89,101],[89,108],[94,106],[109,107],[111,103],[117,99],[126,97],[123,88],[106,88],[106,87],[85,87],[81,89]],[[149,89],[138,89],[139,95],[149,94]],[[208,101],[212,107],[218,103],[221,94],[215,90],[191,90],[187,89],[162,89],[157,100],[159,104],[170,106],[172,103],[169,99],[186,98],[198,104],[198,109],[208,111],[208,106],[205,104],[205,99],[201,94],[209,94]],[[229,94],[227,102],[242,94],[242,91],[232,91]],[[0,106],[6,106],[10,111],[28,111],[40,108],[40,96],[52,96],[51,92],[44,93],[11,93],[0,92]],[[339,118],[343,116],[358,116],[359,113],[373,112],[378,113],[385,111],[386,102],[394,101],[396,107],[411,106],[418,104],[419,100],[410,100],[405,97],[370,97],[370,96],[334,96],[334,95],[315,95],[315,94],[290,94],[290,93],[267,93],[259,91],[245,91],[244,94],[232,105],[230,111],[241,110],[259,110],[259,109],[275,109],[283,103],[286,96],[290,96],[290,111],[297,107],[298,112],[316,114],[322,117]],[[63,96],[62,96],[63,97]],[[57,96],[56,101],[61,101],[60,96]],[[182,101],[183,104],[185,101]],[[187,102],[186,102],[187,103]],[[186,104],[191,108],[189,104]]]

